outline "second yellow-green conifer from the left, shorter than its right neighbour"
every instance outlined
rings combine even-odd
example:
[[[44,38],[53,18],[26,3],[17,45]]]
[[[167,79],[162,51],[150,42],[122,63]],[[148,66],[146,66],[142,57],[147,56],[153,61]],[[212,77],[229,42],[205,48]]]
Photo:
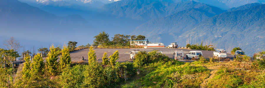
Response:
[[[43,61],[44,60],[42,59],[41,54],[38,53],[34,56],[33,62],[31,63],[31,73],[32,75],[36,75],[37,78],[44,74],[45,63]]]

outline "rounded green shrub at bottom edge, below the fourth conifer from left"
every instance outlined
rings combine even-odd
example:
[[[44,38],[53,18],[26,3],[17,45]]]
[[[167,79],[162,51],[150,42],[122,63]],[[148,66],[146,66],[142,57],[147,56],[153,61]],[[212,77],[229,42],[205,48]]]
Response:
[[[59,85],[64,88],[81,88],[84,85],[84,71],[86,65],[76,65],[67,67],[62,70],[62,75],[59,77]]]

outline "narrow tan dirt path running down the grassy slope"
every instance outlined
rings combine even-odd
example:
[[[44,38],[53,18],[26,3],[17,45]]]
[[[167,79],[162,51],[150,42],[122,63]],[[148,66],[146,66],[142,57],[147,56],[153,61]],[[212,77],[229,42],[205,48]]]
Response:
[[[200,84],[200,88],[206,88],[209,79],[212,79],[215,76],[215,73],[218,71],[220,65],[217,66],[208,66],[207,68],[210,70],[210,76],[207,79],[204,79]]]

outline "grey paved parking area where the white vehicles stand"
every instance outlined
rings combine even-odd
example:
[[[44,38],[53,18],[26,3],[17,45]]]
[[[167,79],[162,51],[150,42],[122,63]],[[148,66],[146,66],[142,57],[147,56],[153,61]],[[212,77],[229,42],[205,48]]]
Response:
[[[110,55],[112,55],[116,50],[119,51],[119,60],[118,62],[132,62],[132,60],[130,60],[130,52],[132,50],[135,49],[99,49],[99,48],[95,48],[95,53],[97,55],[97,59],[99,62],[102,62],[102,57],[103,57],[103,53],[107,52],[108,57]],[[203,53],[203,57],[205,58],[209,58],[209,57],[213,57],[213,51],[206,51],[206,50],[188,50],[188,49],[179,49],[179,48],[147,48],[147,49],[136,49],[136,50],[145,50],[145,51],[151,51],[151,50],[161,50],[163,52],[163,54],[168,55],[168,57],[172,58],[173,57],[173,53],[175,50],[183,50],[184,52],[184,60],[180,60],[180,61],[185,61],[185,62],[190,62],[191,60],[185,60],[186,57],[185,55],[189,53],[189,51],[202,51]],[[82,56],[84,56],[84,59],[86,59],[85,62],[87,62],[88,59],[88,55],[87,53],[89,52],[89,49],[82,49],[82,50],[78,50],[78,51],[74,51],[71,52],[71,59],[72,62],[80,62],[82,59]],[[233,55],[228,54],[227,53],[227,57],[230,59],[233,59]]]

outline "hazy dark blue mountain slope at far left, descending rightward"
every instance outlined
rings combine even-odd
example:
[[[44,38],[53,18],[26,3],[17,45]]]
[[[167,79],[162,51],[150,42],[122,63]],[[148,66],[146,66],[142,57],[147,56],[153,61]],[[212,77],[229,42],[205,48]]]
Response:
[[[17,0],[0,1],[0,25],[2,38],[14,36],[49,43],[92,40],[92,34],[100,32],[80,15],[59,17]]]

